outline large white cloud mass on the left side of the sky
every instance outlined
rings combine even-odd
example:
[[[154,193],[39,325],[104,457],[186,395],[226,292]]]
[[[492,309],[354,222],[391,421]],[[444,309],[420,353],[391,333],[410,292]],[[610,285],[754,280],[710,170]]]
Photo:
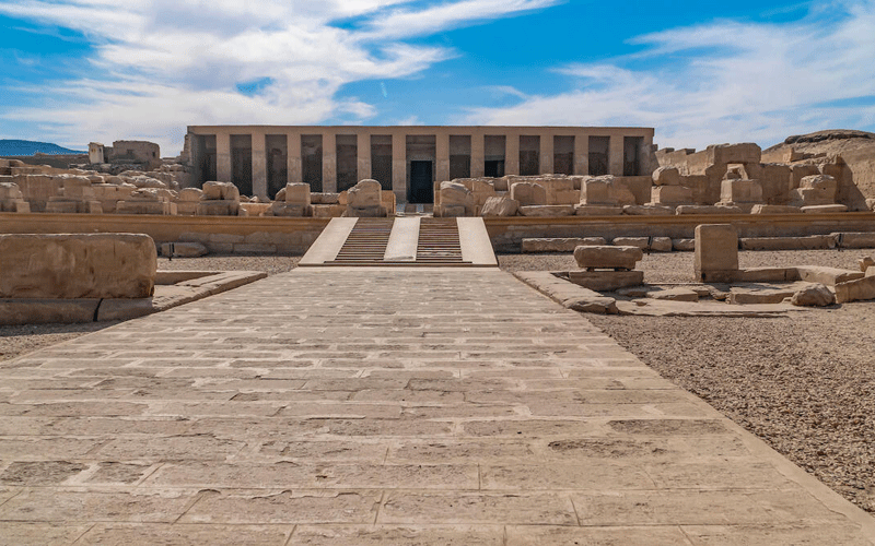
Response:
[[[24,0],[0,13],[83,33],[95,74],[31,90],[39,107],[2,117],[60,142],[148,139],[164,155],[186,124],[365,120],[373,106],[338,98],[346,84],[422,72],[455,55],[402,38],[429,35],[556,0]],[[354,25],[336,25],[357,19]],[[425,21],[423,23],[423,21]],[[399,31],[402,28],[402,31]],[[269,79],[254,95],[237,84]]]

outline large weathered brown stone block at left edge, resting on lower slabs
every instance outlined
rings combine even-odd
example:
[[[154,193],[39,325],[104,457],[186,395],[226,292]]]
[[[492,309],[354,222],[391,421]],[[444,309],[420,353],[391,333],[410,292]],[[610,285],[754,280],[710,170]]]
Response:
[[[156,269],[148,235],[0,235],[3,298],[147,298]]]

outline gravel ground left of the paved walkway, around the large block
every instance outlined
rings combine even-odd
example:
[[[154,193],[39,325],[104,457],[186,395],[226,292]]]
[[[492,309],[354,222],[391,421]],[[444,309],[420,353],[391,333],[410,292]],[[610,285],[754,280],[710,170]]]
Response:
[[[301,257],[291,256],[205,256],[202,258],[158,259],[159,270],[264,271],[268,275],[291,271]],[[116,322],[83,324],[31,324],[0,327],[0,361],[48,345],[96,332]]]

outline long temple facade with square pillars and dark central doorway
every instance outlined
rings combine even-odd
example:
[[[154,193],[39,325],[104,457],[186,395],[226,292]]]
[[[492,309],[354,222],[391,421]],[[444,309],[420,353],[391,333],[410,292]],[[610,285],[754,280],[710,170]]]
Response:
[[[338,192],[372,178],[399,202],[432,183],[504,175],[649,175],[653,129],[634,127],[189,126],[195,179],[271,199],[287,182]]]

